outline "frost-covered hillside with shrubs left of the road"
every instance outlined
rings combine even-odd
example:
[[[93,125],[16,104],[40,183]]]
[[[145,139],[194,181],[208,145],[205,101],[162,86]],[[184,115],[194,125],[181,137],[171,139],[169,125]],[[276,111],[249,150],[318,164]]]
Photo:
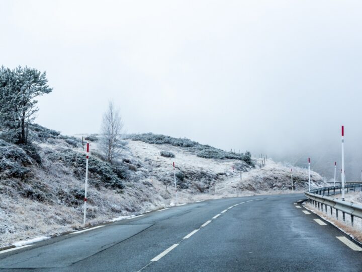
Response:
[[[0,247],[81,227],[85,154],[80,138],[65,137],[40,126],[33,132],[33,151],[0,143]],[[128,139],[121,158],[110,165],[101,159],[97,137],[88,139],[90,225],[175,205],[172,162],[178,203],[291,189],[290,169],[272,160],[258,169],[246,163],[242,155],[209,146]],[[162,151],[174,157],[163,157]],[[215,155],[217,159],[205,158]],[[294,175],[296,188],[306,188],[307,172],[294,169]],[[314,185],[322,182],[317,173],[312,172],[312,178]]]

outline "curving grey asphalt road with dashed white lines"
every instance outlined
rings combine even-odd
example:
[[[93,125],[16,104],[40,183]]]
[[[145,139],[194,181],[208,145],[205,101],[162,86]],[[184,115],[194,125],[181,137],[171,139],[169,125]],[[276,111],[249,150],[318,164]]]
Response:
[[[302,197],[213,199],[155,211],[0,254],[0,271],[362,270],[362,252],[297,208]]]

